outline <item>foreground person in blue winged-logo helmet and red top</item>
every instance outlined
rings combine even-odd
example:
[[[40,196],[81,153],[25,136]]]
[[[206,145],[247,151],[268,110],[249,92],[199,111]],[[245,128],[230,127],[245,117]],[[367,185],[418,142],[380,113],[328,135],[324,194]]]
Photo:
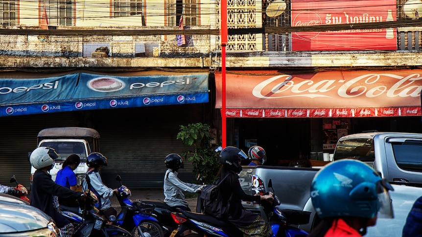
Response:
[[[360,237],[378,215],[393,218],[391,185],[365,163],[342,159],[321,169],[311,183],[311,200],[321,222],[309,237]]]

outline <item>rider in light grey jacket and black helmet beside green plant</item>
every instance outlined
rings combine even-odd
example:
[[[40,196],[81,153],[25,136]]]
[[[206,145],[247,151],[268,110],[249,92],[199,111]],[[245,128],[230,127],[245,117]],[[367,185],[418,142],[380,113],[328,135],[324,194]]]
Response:
[[[190,211],[182,191],[196,193],[201,190],[202,186],[185,183],[177,177],[177,171],[183,168],[183,159],[180,155],[168,154],[164,158],[164,165],[167,168],[164,174],[164,202],[170,207]]]

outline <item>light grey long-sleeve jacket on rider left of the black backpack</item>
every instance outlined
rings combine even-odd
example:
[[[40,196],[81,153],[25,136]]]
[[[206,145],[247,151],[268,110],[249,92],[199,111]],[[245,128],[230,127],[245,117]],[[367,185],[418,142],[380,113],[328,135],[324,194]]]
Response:
[[[188,207],[188,202],[185,201],[185,195],[182,191],[196,193],[200,188],[201,185],[181,181],[177,177],[177,172],[168,169],[164,175],[164,202],[170,207]]]

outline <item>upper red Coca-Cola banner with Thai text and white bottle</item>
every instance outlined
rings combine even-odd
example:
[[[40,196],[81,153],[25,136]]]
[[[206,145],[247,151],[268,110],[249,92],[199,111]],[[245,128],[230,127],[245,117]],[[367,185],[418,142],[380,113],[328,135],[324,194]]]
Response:
[[[292,25],[387,22],[396,19],[396,0],[292,0]],[[292,50],[397,50],[396,28],[293,32]]]

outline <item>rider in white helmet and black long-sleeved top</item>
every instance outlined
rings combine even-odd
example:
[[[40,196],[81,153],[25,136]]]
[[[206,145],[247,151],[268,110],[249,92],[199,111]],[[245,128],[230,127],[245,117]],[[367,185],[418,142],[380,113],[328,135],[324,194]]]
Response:
[[[85,199],[87,194],[75,192],[56,184],[48,173],[54,166],[54,159],[58,157],[56,151],[48,147],[39,147],[29,156],[31,165],[37,169],[32,177],[31,206],[34,206],[51,216],[60,228],[63,237],[73,234],[73,225],[55,208],[53,201],[56,198]]]

